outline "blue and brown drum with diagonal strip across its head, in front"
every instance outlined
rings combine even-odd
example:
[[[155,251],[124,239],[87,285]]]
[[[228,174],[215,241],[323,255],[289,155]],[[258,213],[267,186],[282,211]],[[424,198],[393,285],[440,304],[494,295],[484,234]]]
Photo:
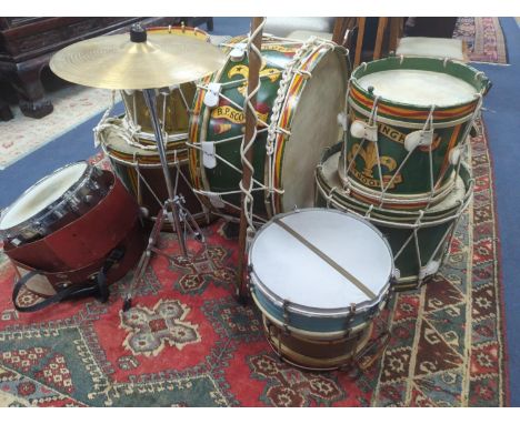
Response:
[[[277,215],[249,249],[251,295],[286,361],[328,370],[367,344],[386,305],[393,259],[367,221],[327,209]]]

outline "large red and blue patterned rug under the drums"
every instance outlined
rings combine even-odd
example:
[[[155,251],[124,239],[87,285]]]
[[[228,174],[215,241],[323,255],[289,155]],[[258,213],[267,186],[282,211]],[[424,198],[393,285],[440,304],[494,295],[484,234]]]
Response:
[[[207,228],[203,259],[154,258],[121,312],[67,302],[18,314],[0,256],[0,406],[508,405],[499,240],[486,137],[472,140],[474,201],[436,280],[390,304],[392,337],[368,370],[310,373],[277,359],[232,295],[237,241]],[[166,251],[178,254],[172,235]],[[36,300],[29,293],[23,302]]]

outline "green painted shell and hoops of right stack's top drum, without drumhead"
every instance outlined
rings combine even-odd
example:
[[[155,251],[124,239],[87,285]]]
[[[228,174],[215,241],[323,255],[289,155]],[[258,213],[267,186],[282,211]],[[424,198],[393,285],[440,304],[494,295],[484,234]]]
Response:
[[[373,93],[358,82],[364,75],[388,70],[421,70],[446,73],[472,85],[477,93],[487,93],[491,83],[480,71],[459,62],[433,58],[387,58],[358,67],[352,72],[349,91],[349,122],[368,121],[374,101]],[[439,190],[449,182],[453,166],[450,163],[450,151],[461,144],[471,125],[471,118],[479,103],[479,98],[471,101],[437,107],[433,113],[434,135],[432,144],[432,176],[434,189]],[[372,142],[366,142],[361,154],[348,178],[359,182],[368,191],[380,191],[380,175],[377,158],[380,158],[383,183],[388,183],[408,154],[404,149],[404,137],[412,131],[421,130],[430,113],[430,107],[378,99],[378,150]],[[353,158],[360,139],[347,133],[346,160]],[[344,160],[344,159],[343,159]],[[416,149],[407,163],[396,175],[388,195],[428,195],[431,192],[430,158],[428,148]],[[413,199],[410,200],[413,209]],[[419,206],[420,208],[420,206]]]

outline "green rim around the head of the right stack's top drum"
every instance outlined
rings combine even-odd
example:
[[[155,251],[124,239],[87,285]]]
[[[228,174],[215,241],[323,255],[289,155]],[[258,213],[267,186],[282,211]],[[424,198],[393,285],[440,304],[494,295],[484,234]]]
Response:
[[[422,60],[427,61],[427,62],[430,62],[430,63],[433,63],[433,62],[434,63],[449,62],[454,67],[469,69],[471,72],[473,72],[474,78],[477,78],[479,74],[483,75],[481,78],[481,80],[480,80],[481,84],[482,84],[482,88],[480,89],[480,91],[473,85],[473,88],[476,89],[476,93],[474,93],[474,98],[472,100],[466,101],[466,102],[452,103],[452,104],[444,105],[444,107],[436,107],[436,110],[450,110],[450,109],[456,109],[456,108],[460,108],[460,107],[464,107],[464,105],[470,105],[470,104],[474,103],[478,100],[479,94],[484,95],[489,91],[490,80],[488,79],[488,77],[483,72],[479,71],[478,69],[476,69],[476,68],[473,68],[473,67],[471,67],[471,65],[469,65],[467,63],[462,63],[462,62],[450,60],[450,59],[444,60],[444,59],[440,59],[440,58],[429,58],[429,57],[402,57],[402,58],[388,57],[388,58],[378,59],[378,60],[374,60],[374,61],[371,61],[371,62],[368,62],[368,63],[366,62],[364,65],[366,67],[370,67],[370,65],[373,67],[377,63],[381,63],[381,62],[392,63],[392,62],[396,62],[396,61],[399,61],[400,64],[402,64],[406,61],[417,62],[417,61],[422,61]],[[361,63],[358,68],[352,70],[350,82],[356,87],[356,90],[360,91],[363,95],[368,97],[369,99],[374,100],[376,97],[373,94],[371,94],[368,90],[363,89],[361,87],[361,84],[359,83],[359,78],[360,77],[357,73],[361,72],[362,68],[364,65],[363,65],[363,63]],[[391,69],[393,69],[393,68],[391,68]],[[391,69],[389,69],[389,70],[391,70]],[[414,68],[403,68],[403,69],[414,69]],[[431,72],[434,72],[434,71],[431,71]],[[371,72],[371,73],[374,73],[374,72]],[[456,78],[461,79],[459,77],[456,77]],[[463,79],[461,79],[461,80],[464,81]],[[466,81],[466,82],[468,82],[468,81]],[[380,97],[379,102],[382,102],[382,103],[389,104],[389,105],[396,105],[398,108],[412,109],[412,110],[429,111],[430,108],[431,108],[431,105],[419,107],[419,105],[413,104],[413,103],[398,102],[398,101],[387,99],[384,97]],[[349,94],[349,103],[350,103],[350,94]],[[472,111],[468,112],[469,117],[471,117],[472,113],[473,113]],[[379,119],[379,117],[378,117],[378,119]],[[442,122],[444,122],[444,121],[442,121]]]

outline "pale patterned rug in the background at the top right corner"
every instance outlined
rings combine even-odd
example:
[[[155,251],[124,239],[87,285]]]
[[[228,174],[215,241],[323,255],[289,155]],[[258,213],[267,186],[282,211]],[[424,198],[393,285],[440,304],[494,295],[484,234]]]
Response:
[[[499,18],[459,18],[453,38],[466,41],[471,62],[508,64]]]

